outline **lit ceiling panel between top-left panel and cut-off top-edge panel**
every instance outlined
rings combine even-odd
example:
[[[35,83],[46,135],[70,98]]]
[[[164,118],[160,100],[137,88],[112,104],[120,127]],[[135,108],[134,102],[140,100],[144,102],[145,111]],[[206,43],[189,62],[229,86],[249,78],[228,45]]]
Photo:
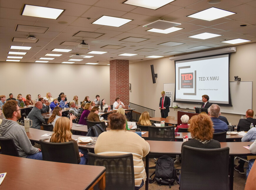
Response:
[[[97,19],[96,21],[94,21],[92,24],[120,27],[130,21],[132,21],[132,20],[104,15],[104,16],[100,17],[99,19]]]

